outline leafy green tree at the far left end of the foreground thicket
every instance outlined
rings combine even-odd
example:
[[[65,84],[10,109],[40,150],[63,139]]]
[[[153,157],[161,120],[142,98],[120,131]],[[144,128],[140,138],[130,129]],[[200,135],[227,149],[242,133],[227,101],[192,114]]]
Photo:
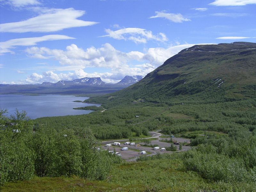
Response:
[[[15,116],[13,118],[18,119]],[[0,185],[8,181],[28,180],[34,176],[34,151],[30,147],[32,130],[28,129],[31,122],[23,121],[15,125],[18,132],[13,132],[13,126],[10,126],[5,127],[0,134]]]

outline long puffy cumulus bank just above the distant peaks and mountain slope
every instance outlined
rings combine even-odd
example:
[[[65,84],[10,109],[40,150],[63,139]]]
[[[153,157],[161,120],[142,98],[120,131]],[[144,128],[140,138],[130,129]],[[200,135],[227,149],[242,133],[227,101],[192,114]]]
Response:
[[[145,52],[121,52],[116,50],[111,44],[103,44],[99,48],[89,47],[86,50],[78,48],[75,44],[66,47],[66,50],[49,49],[46,47],[31,47],[26,52],[31,57],[58,60],[62,66],[52,68],[44,72],[42,78],[36,79],[29,76],[26,82],[42,83],[44,81],[57,82],[60,80],[73,80],[83,77],[101,77],[106,83],[117,83],[124,76],[142,75],[145,76],[165,60],[177,54],[183,49],[195,44],[181,44],[168,48],[155,47],[145,50]],[[133,65],[133,62],[136,65]],[[87,73],[86,68],[107,68],[110,72]],[[54,72],[55,71],[55,72]],[[68,73],[58,73],[58,71],[74,71]],[[37,74],[38,75],[38,74]]]

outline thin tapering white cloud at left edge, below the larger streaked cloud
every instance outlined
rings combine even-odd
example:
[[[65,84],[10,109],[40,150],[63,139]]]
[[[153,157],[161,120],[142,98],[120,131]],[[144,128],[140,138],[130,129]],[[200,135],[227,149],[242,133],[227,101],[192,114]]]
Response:
[[[41,37],[11,39],[8,41],[0,42],[0,55],[7,52],[13,53],[11,49],[15,48],[15,46],[32,46],[42,41],[53,41],[53,40],[63,40],[63,39],[75,39],[75,38],[65,36],[65,35],[46,35]]]

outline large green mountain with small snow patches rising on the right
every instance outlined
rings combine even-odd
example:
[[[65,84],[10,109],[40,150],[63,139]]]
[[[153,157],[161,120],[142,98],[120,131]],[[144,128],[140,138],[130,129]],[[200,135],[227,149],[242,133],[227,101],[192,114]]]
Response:
[[[195,45],[184,49],[138,83],[92,98],[110,107],[140,102],[229,101],[255,96],[256,43]]]

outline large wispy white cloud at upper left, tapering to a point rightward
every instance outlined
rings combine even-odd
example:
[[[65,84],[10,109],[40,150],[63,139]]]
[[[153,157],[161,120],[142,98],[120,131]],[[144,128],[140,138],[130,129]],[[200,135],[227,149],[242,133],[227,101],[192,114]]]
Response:
[[[85,11],[68,9],[51,9],[48,12],[28,20],[0,24],[0,32],[52,32],[65,28],[84,27],[97,22],[83,21],[76,18],[84,15]]]

